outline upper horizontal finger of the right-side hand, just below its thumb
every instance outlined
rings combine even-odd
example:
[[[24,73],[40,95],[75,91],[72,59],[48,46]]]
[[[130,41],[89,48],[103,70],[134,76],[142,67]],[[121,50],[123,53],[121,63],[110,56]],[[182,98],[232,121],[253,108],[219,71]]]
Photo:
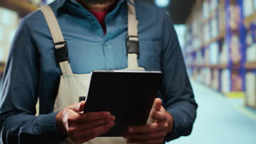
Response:
[[[139,125],[128,128],[128,134],[147,134],[154,133],[156,131],[166,130],[168,124],[166,122],[152,123],[148,125]]]

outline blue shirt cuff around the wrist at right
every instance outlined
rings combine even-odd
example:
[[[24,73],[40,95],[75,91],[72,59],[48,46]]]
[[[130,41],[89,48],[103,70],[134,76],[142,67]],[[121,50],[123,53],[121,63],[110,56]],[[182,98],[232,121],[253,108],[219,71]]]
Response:
[[[182,136],[182,118],[177,110],[167,110],[173,117],[173,131],[165,137],[165,141],[171,141]]]

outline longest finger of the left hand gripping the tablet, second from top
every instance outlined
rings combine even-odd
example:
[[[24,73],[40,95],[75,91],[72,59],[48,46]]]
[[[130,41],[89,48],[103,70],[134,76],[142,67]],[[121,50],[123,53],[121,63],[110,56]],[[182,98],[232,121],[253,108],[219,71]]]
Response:
[[[86,130],[86,129],[94,128],[94,127],[97,127],[99,125],[109,123],[109,122],[114,122],[114,121],[115,121],[115,117],[114,116],[109,116],[108,118],[98,119],[96,121],[92,121],[92,122],[88,122],[88,123],[81,123],[81,122],[79,122],[79,123],[70,123],[69,131],[72,131],[72,130],[76,130],[76,131]]]

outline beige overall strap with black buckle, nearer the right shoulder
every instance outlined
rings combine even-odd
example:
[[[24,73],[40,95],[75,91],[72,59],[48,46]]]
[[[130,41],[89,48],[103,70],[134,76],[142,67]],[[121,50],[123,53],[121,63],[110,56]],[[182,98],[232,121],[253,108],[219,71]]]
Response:
[[[127,0],[128,8],[128,35],[126,36],[126,48],[128,55],[128,68],[137,68],[139,56],[138,20],[134,0]]]

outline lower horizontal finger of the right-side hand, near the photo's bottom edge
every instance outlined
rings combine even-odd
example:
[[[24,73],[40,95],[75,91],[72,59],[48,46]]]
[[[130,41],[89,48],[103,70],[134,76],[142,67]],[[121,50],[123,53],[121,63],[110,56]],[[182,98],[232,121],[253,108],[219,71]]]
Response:
[[[155,133],[148,133],[148,134],[133,134],[133,135],[124,135],[126,139],[129,140],[150,140],[150,139],[164,139],[166,136],[166,130],[158,131]]]

